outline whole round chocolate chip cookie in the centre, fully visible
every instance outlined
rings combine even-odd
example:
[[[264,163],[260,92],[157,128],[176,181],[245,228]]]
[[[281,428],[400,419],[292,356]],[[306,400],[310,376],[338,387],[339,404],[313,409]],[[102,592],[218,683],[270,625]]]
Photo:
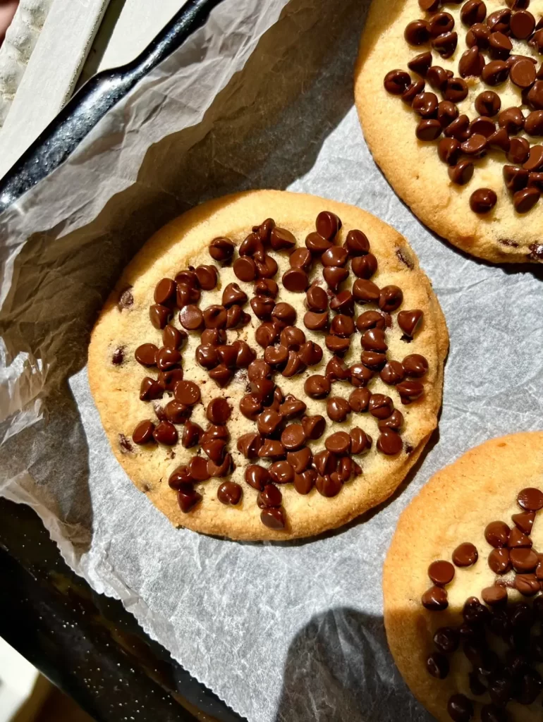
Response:
[[[337,248],[316,232],[321,212],[319,230]],[[262,223],[269,218],[275,227]],[[240,279],[255,273],[278,286]],[[161,279],[170,282],[157,288]],[[319,315],[322,302],[331,308]],[[226,343],[212,329],[202,339],[201,310],[222,304],[227,313],[204,316],[207,326],[228,324]],[[166,331],[151,316],[158,327],[170,318]],[[161,349],[163,334],[170,347],[181,340],[181,323],[199,327],[186,331],[182,361]],[[95,326],[89,376],[114,453],[172,523],[234,539],[289,539],[346,523],[394,492],[436,426],[447,349],[438,301],[399,233],[352,206],[253,191],[201,205],[149,240]],[[380,372],[387,357],[398,362]],[[155,362],[173,362],[173,373],[159,374]],[[209,406],[214,399],[227,405]],[[138,426],[136,441],[149,443],[134,443]]]

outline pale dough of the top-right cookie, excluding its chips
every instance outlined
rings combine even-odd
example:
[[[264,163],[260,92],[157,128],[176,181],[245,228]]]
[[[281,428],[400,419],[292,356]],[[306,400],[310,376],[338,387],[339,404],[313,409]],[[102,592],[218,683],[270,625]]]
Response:
[[[516,212],[512,193],[506,188],[503,178],[503,166],[511,164],[511,160],[506,160],[505,153],[490,150],[482,160],[474,160],[474,174],[469,183],[464,186],[452,183],[448,165],[438,157],[438,141],[422,142],[415,136],[417,123],[421,120],[418,113],[402,102],[398,95],[390,95],[383,87],[384,77],[394,69],[407,71],[413,80],[420,80],[419,75],[409,71],[407,64],[415,56],[430,50],[433,66],[451,70],[454,77],[459,77],[459,59],[467,49],[466,33],[469,30],[461,22],[463,6],[463,2],[446,2],[439,9],[452,15],[453,32],[458,34],[458,45],[453,55],[442,58],[430,43],[414,47],[404,39],[404,30],[409,22],[428,20],[433,16],[423,12],[417,0],[373,0],[355,71],[355,99],[362,130],[388,182],[414,214],[433,231],[467,253],[488,261],[541,262],[543,201],[539,201],[529,212]],[[486,17],[498,9],[507,9],[505,0],[485,0],[485,6]],[[531,0],[528,10],[536,21],[539,20],[543,15],[543,0]],[[483,20],[485,22],[486,19]],[[539,69],[542,56],[537,50],[527,40],[511,38],[511,41],[512,54],[537,58],[535,67]],[[487,50],[481,52],[487,63],[492,60]],[[522,102],[521,88],[511,79],[495,87],[479,77],[464,79],[469,94],[457,105],[459,112],[465,113],[470,121],[479,116],[474,106],[475,99],[487,90],[500,96],[501,110],[516,106],[522,108],[524,116],[530,112],[530,108]],[[428,83],[425,92],[435,92],[438,100],[443,100],[440,91],[435,91]],[[498,116],[491,119],[498,121]],[[441,139],[443,137],[440,136]],[[541,141],[524,131],[517,137],[526,138],[532,146]],[[494,208],[484,215],[470,209],[470,196],[478,188],[490,188],[497,195]]]

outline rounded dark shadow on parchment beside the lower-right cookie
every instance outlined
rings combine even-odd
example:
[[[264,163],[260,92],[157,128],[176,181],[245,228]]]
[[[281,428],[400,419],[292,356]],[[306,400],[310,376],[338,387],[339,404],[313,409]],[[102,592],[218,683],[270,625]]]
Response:
[[[367,591],[367,590],[366,590]],[[375,589],[381,596],[381,588]],[[431,722],[388,651],[382,617],[329,609],[290,644],[274,722]]]

